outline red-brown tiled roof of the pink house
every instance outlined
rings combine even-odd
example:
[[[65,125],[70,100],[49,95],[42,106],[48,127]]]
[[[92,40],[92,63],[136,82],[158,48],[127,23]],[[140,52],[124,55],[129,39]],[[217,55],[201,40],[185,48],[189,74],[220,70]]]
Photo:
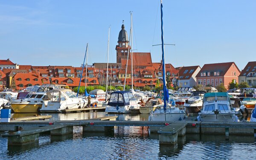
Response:
[[[206,73],[206,76],[208,72],[210,72],[210,76],[214,76],[214,72],[219,72],[219,76],[224,76],[230,69],[232,64],[236,66],[235,62],[204,64],[204,66],[201,68],[200,72],[196,75],[196,77],[201,77],[201,73],[204,72]],[[238,69],[237,66],[236,68]]]

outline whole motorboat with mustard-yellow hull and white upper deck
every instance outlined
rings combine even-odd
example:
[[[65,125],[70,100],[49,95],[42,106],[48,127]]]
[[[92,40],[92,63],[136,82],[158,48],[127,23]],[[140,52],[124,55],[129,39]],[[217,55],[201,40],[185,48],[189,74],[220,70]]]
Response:
[[[28,93],[25,98],[12,101],[11,106],[15,113],[36,113],[47,101],[46,92]]]

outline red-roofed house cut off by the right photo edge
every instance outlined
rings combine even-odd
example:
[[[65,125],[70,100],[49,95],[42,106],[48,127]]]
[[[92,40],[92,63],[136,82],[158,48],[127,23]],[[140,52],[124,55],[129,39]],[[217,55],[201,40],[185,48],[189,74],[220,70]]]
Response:
[[[238,77],[239,83],[247,82],[250,87],[256,86],[256,61],[248,62]]]

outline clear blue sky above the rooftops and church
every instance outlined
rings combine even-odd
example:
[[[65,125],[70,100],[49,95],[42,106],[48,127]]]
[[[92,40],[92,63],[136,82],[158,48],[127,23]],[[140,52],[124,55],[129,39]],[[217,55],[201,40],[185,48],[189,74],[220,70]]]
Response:
[[[256,61],[255,0],[163,0],[165,61],[174,67]],[[116,63],[124,20],[134,52],[160,62],[160,0],[0,0],[0,59],[20,65]]]

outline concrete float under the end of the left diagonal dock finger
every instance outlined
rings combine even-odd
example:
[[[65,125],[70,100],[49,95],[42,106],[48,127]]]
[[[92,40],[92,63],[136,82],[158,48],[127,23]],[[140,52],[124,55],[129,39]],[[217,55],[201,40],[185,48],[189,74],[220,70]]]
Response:
[[[22,137],[8,137],[8,145],[26,145],[29,143],[38,143],[38,138],[39,133]]]

